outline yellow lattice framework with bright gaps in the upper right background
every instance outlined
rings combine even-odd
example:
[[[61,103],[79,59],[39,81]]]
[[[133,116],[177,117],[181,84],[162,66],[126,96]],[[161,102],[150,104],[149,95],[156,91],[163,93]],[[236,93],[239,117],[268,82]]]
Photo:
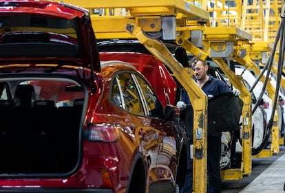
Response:
[[[238,27],[251,33],[254,42],[274,43],[284,0],[196,0],[194,2],[211,13],[211,27]]]

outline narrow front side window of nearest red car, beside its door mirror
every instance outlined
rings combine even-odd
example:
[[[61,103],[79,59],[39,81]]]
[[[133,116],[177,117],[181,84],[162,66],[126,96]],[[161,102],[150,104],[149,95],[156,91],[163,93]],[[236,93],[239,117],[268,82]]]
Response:
[[[141,87],[142,95],[147,102],[147,110],[149,112],[148,116],[162,118],[163,109],[158,98],[156,97],[156,94],[151,89],[151,87],[149,87],[149,84],[140,78],[140,76],[136,76],[136,79],[138,80],[138,84]]]

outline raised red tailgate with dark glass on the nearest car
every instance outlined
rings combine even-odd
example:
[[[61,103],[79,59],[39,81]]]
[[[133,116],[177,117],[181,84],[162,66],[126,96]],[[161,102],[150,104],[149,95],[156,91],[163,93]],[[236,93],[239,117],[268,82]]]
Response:
[[[100,71],[89,12],[52,1],[0,0],[0,65],[61,61]]]

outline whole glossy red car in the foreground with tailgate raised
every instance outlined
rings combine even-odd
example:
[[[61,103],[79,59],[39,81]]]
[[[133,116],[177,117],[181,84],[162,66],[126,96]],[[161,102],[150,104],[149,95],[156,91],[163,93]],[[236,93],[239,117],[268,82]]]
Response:
[[[101,64],[87,10],[0,7],[0,192],[172,193],[184,184],[177,109],[164,108],[133,65]]]

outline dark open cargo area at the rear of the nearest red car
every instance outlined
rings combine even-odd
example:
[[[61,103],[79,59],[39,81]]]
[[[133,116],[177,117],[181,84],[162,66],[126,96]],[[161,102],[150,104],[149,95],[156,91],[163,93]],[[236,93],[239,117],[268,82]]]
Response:
[[[79,157],[84,92],[74,82],[54,80],[6,82],[5,87],[0,175],[71,172]]]

